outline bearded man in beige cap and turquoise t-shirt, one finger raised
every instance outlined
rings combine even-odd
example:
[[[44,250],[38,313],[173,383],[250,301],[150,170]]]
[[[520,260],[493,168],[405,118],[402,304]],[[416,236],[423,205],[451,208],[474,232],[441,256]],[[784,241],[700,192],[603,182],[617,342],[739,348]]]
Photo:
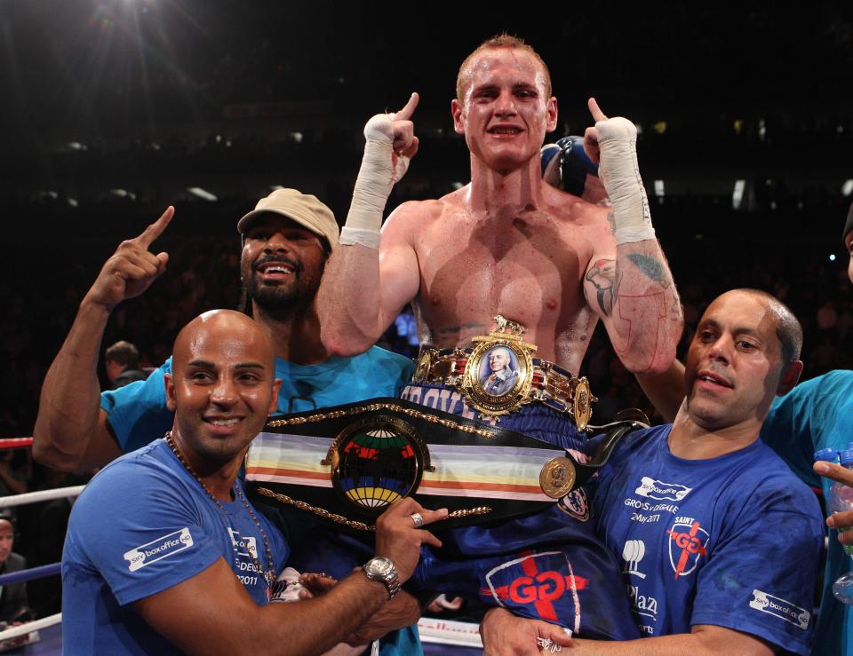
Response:
[[[171,428],[164,387],[171,359],[146,381],[102,394],[97,369],[111,312],[165,270],[168,255],[149,248],[173,213],[166,209],[140,236],[124,241],[80,304],[42,387],[33,443],[40,462],[62,470],[99,467]],[[331,210],[315,196],[279,189],[242,217],[237,229],[243,235],[242,306],[273,339],[275,375],[282,380],[278,410],[397,396],[411,378],[411,360],[378,347],[354,358],[334,357],[320,341],[315,294],[339,235]],[[414,630],[383,642],[397,645],[396,653],[419,652]]]

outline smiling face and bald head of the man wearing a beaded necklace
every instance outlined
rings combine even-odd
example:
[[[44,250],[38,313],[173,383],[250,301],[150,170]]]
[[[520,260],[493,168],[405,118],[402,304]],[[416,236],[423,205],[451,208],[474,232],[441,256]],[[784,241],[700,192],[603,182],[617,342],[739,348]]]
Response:
[[[196,469],[242,454],[275,412],[273,346],[239,312],[205,312],[180,331],[166,375],[175,439]],[[206,464],[205,464],[206,463]]]

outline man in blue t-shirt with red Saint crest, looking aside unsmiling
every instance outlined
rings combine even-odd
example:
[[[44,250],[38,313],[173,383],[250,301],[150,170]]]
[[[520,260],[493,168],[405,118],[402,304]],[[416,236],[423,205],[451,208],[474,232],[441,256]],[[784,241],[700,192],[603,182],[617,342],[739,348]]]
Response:
[[[814,495],[759,440],[802,370],[802,329],[773,296],[737,289],[699,321],[672,425],[635,431],[602,470],[602,537],[645,636],[575,641],[608,653],[807,653],[823,548]],[[512,623],[492,612],[486,639]],[[490,634],[493,634],[490,636]]]

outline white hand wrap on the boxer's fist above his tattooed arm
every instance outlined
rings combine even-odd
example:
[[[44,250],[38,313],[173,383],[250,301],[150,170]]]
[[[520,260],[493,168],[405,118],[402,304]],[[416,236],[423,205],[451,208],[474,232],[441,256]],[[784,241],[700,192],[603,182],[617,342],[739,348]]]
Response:
[[[617,245],[654,239],[649,199],[637,165],[637,128],[617,116],[595,123],[595,130],[602,158],[598,175],[613,207],[610,230]]]

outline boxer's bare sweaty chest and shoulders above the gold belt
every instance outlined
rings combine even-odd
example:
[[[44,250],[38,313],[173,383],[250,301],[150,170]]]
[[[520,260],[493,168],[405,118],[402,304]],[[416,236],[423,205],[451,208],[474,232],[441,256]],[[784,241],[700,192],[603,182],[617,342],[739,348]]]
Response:
[[[501,314],[527,328],[537,357],[577,373],[598,320],[584,277],[593,257],[616,252],[606,209],[549,187],[541,207],[477,213],[466,190],[407,203],[383,233],[417,255],[421,344],[470,346]]]

